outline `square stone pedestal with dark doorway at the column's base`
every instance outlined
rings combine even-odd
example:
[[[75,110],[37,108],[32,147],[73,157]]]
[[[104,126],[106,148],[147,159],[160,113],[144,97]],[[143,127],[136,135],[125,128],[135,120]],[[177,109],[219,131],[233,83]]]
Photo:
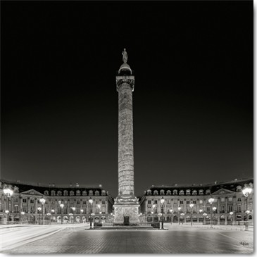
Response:
[[[118,196],[113,208],[113,225],[139,225],[139,203],[135,196]]]

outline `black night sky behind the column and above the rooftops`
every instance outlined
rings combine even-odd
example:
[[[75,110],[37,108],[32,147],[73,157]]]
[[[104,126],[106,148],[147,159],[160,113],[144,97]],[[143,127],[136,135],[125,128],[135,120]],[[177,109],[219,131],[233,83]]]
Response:
[[[253,1],[1,1],[1,178],[118,194],[124,47],[135,193],[253,177]]]

